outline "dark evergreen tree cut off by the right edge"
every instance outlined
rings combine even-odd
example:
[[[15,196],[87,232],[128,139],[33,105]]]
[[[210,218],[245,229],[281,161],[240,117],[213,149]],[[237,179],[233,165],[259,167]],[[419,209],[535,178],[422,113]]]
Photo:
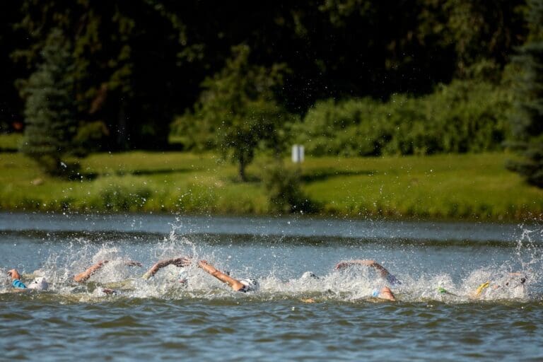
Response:
[[[519,69],[511,126],[522,160],[507,167],[543,187],[543,0],[527,1],[530,35],[513,62]]]

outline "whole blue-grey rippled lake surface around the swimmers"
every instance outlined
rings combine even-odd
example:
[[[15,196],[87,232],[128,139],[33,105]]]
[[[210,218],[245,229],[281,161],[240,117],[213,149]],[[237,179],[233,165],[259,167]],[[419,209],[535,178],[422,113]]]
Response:
[[[537,224],[0,214],[0,360],[541,361],[542,245]],[[194,265],[140,278],[180,255],[259,291]],[[397,302],[372,297],[387,285],[373,269],[334,270],[345,259],[395,274]],[[49,291],[13,293],[11,268]]]

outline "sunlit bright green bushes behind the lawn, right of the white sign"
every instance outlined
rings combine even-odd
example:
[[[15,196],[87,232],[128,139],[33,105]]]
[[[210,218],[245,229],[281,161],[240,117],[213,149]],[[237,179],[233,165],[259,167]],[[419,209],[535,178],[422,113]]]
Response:
[[[495,151],[509,134],[509,107],[501,87],[453,81],[419,98],[325,100],[293,134],[312,156]]]

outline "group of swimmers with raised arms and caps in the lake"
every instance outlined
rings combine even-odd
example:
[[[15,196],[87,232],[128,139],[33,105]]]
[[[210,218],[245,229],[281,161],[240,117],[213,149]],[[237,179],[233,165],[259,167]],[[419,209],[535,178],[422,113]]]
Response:
[[[88,279],[93,276],[97,271],[102,269],[105,264],[107,264],[107,260],[100,261],[96,264],[93,264],[91,267],[88,267],[85,271],[76,274],[73,276],[73,280],[78,283],[84,283],[88,281]],[[168,265],[174,265],[175,267],[185,268],[189,267],[192,264],[192,259],[190,257],[175,257],[171,259],[163,259],[157,262],[156,264],[153,264],[153,266],[146,271],[146,273],[142,276],[143,279],[151,279],[160,269],[167,267]],[[134,261],[127,261],[124,262],[124,264],[128,266],[136,266],[141,267],[141,263],[134,262]],[[390,287],[399,286],[402,284],[401,281],[399,281],[394,275],[392,275],[385,267],[378,264],[378,262],[375,262],[375,260],[368,260],[368,259],[355,259],[355,260],[345,260],[341,261],[338,264],[336,264],[335,268],[336,270],[345,269],[347,267],[354,267],[354,266],[362,266],[362,267],[368,267],[370,269],[373,269],[377,272],[380,281],[381,286],[379,288],[373,289],[371,296],[373,298],[380,298],[383,300],[391,300],[395,301],[396,297],[395,294],[392,292]],[[250,291],[257,291],[259,289],[258,281],[255,279],[235,279],[233,276],[230,276],[230,273],[223,272],[213,265],[211,265],[209,262],[206,262],[206,260],[200,260],[197,262],[197,267],[200,269],[206,271],[206,273],[210,274],[211,276],[214,276],[219,281],[223,282],[224,284],[228,284],[230,288],[232,288],[233,291],[240,291],[243,293],[250,292]],[[8,276],[11,278],[11,286],[13,288],[16,288],[17,290],[38,290],[38,291],[45,291],[47,288],[49,288],[49,284],[47,283],[47,280],[44,276],[38,276],[34,278],[30,283],[25,284],[21,280],[21,274],[16,269],[11,269],[8,271]],[[303,275],[304,278],[310,278],[310,279],[319,279],[319,277],[312,272],[306,272]],[[185,284],[187,283],[187,279],[185,277],[181,277],[179,279],[180,283]],[[486,288],[491,287],[491,289],[498,289],[498,288],[506,288],[506,287],[514,287],[517,286],[524,286],[525,282],[527,281],[527,277],[524,274],[520,273],[510,273],[508,276],[508,279],[504,281],[503,283],[492,283],[491,281],[485,281],[483,284],[479,285],[479,287],[472,293],[472,297],[478,297],[481,295],[482,291],[484,291]],[[102,288],[102,291],[106,294],[115,294],[117,291],[112,288]],[[439,293],[443,294],[450,294],[452,296],[455,296],[454,293],[450,293],[443,287],[438,288]]]

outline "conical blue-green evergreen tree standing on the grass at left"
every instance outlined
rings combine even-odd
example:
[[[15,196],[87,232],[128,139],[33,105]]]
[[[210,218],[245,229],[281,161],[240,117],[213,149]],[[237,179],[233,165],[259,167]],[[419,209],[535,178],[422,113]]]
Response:
[[[62,156],[71,151],[76,118],[70,44],[53,28],[41,52],[42,63],[23,87],[25,134],[21,151],[51,175],[61,175]]]

